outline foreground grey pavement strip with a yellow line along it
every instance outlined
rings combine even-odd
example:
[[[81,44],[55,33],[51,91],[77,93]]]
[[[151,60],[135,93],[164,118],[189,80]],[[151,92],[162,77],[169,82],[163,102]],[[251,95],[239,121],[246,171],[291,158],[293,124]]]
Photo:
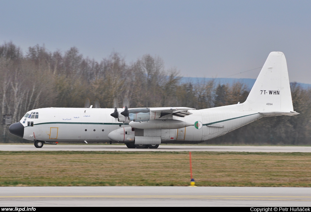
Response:
[[[311,204],[311,188],[1,187],[0,206],[290,206]]]

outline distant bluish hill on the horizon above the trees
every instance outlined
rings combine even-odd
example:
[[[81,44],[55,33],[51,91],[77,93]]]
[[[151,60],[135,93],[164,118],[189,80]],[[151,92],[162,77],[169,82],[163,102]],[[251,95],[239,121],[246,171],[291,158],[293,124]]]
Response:
[[[207,81],[211,81],[211,80],[215,80],[215,84],[218,85],[223,85],[223,84],[229,84],[232,85],[235,82],[241,82],[243,84],[245,84],[247,86],[247,88],[249,90],[252,89],[256,79],[250,79],[250,78],[204,78],[204,77],[182,77],[181,82],[191,82],[193,84],[196,83],[202,83],[202,82],[207,82]],[[308,89],[311,88],[311,84],[306,84],[306,83],[300,83],[298,82],[298,84],[304,88],[304,89]]]

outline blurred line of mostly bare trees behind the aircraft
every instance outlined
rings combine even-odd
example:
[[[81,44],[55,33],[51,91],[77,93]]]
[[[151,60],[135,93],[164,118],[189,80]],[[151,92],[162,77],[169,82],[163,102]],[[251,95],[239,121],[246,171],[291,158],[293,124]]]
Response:
[[[44,45],[24,53],[12,42],[0,45],[0,110],[17,122],[29,110],[44,107],[84,107],[86,98],[101,108],[211,108],[244,102],[248,88],[239,82],[183,82],[176,67],[165,68],[159,56],[142,55],[126,63],[118,52],[96,61],[76,47],[51,52]],[[311,90],[291,83],[294,117],[262,118],[209,144],[305,144],[310,141]],[[0,142],[22,142],[0,124]],[[26,141],[24,141],[26,142]]]

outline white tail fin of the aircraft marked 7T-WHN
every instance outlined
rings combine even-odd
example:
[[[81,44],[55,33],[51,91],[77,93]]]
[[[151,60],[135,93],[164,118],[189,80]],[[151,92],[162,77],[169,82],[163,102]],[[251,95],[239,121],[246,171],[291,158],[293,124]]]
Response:
[[[265,115],[295,115],[287,64],[282,52],[271,52],[245,103],[246,110]]]

